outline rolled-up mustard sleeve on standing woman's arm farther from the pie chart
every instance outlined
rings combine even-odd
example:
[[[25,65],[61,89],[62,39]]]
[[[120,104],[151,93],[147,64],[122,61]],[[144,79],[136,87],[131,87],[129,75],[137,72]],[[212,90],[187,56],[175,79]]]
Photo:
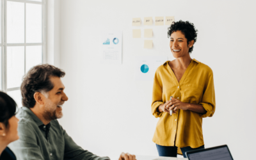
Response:
[[[209,73],[208,79],[205,83],[205,91],[200,104],[203,106],[205,111],[207,111],[204,115],[201,115],[203,118],[213,116],[216,108],[216,101],[212,72]]]

